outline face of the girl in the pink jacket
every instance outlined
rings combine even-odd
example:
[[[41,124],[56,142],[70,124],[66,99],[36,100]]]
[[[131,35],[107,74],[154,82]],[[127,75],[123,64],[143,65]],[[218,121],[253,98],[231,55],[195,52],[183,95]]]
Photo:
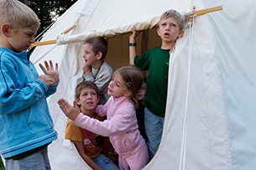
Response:
[[[128,90],[127,82],[125,82],[119,73],[116,73],[110,81],[107,89],[107,94],[114,97],[129,96],[132,95]]]

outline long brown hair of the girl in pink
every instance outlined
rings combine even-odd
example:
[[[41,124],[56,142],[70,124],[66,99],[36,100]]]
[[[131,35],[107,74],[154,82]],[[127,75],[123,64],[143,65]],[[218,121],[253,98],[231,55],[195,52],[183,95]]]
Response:
[[[133,100],[135,108],[137,109],[138,100],[136,99],[136,95],[143,84],[143,74],[136,67],[130,65],[119,68],[114,72],[113,75],[116,75],[117,73],[121,75],[122,79],[126,82],[128,90],[132,92],[130,97],[131,100]]]

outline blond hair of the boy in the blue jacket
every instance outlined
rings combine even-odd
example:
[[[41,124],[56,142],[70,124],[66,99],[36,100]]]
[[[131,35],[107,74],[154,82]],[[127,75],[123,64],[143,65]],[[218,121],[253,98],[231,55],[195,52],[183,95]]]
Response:
[[[0,26],[8,23],[13,29],[38,27],[39,18],[34,11],[18,0],[0,0]]]

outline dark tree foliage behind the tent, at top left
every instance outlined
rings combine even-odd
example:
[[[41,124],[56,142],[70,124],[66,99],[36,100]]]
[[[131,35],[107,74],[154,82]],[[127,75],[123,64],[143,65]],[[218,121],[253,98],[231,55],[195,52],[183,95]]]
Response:
[[[40,19],[40,28],[38,33],[42,33],[51,23],[62,13],[70,8],[77,0],[19,0],[34,10]]]

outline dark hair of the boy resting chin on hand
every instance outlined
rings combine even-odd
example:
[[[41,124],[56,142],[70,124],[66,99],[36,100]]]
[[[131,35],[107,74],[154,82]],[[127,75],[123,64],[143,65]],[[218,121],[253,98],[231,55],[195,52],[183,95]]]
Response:
[[[84,41],[84,44],[90,44],[94,54],[102,53],[102,60],[107,55],[107,39],[104,37],[91,37]]]

